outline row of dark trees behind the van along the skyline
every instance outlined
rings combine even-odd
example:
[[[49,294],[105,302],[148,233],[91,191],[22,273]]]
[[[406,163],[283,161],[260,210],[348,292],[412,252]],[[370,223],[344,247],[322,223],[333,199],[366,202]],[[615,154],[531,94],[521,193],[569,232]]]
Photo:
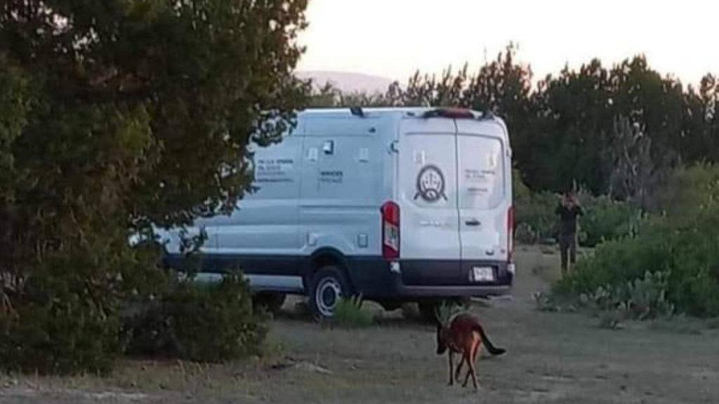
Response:
[[[493,111],[507,121],[521,178],[535,191],[582,185],[595,195],[647,205],[629,183],[651,193],[674,167],[719,159],[719,80],[707,74],[698,89],[652,69],[644,55],[611,67],[599,59],[564,68],[533,86],[531,67],[509,44],[471,72],[416,72],[384,94],[343,96],[325,88],[325,106],[460,106]],[[326,94],[334,91],[334,96]],[[629,132],[641,129],[641,141]],[[646,154],[646,155],[645,155]],[[638,160],[641,173],[635,170]],[[630,181],[631,180],[631,181]],[[645,186],[646,185],[646,186]],[[646,207],[646,206],[644,206]]]

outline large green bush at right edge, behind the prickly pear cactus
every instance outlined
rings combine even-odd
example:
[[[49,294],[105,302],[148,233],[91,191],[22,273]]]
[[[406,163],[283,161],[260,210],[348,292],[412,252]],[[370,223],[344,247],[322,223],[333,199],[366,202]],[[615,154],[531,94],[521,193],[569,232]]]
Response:
[[[679,170],[675,175],[708,180],[696,181],[703,196],[695,193],[681,203],[674,198],[671,208],[661,209],[666,214],[638,221],[633,237],[600,244],[588,259],[577,262],[572,275],[555,285],[555,292],[580,296],[595,293],[600,287],[624,290],[624,285],[644,279],[647,271],[661,272],[666,276],[664,298],[677,311],[718,316],[719,170],[700,166]],[[669,180],[669,184],[676,182],[676,178]]]

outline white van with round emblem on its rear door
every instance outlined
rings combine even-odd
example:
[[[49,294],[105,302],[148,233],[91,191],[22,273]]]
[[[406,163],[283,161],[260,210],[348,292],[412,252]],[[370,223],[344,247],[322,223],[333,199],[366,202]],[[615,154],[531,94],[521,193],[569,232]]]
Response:
[[[283,141],[254,147],[257,190],[230,216],[198,219],[203,272],[242,268],[258,296],[306,294],[317,316],[343,295],[383,307],[508,293],[511,149],[495,116],[466,109],[298,113]],[[181,268],[178,231],[161,233]]]

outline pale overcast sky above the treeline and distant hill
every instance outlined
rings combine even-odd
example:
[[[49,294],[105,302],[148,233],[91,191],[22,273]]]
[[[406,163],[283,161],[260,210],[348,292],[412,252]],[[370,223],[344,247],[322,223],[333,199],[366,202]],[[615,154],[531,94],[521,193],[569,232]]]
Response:
[[[300,70],[404,80],[450,63],[481,65],[514,41],[535,78],[592,57],[644,53],[652,68],[698,83],[719,73],[719,1],[310,0]]]

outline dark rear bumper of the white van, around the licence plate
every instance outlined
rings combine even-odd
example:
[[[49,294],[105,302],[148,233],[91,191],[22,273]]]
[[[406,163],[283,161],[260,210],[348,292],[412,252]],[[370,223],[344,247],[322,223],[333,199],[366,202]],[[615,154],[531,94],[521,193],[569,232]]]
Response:
[[[393,300],[507,295],[514,279],[513,265],[500,261],[400,260],[398,264],[381,259],[354,261],[349,277],[365,297]],[[470,271],[477,266],[492,267],[495,280],[471,282]]]

